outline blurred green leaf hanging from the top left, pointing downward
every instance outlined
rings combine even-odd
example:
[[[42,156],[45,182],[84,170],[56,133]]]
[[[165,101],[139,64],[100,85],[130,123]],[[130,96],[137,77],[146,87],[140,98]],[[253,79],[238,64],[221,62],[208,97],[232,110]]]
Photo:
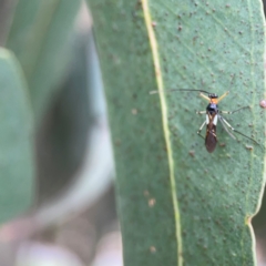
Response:
[[[35,119],[51,103],[70,61],[80,0],[20,0],[7,47],[18,57],[30,88]]]

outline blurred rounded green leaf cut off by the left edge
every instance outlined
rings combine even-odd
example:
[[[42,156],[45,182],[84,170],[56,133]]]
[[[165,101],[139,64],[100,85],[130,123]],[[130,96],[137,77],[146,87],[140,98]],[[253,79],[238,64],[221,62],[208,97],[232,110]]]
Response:
[[[0,49],[0,222],[13,218],[32,204],[32,110],[21,69]]]

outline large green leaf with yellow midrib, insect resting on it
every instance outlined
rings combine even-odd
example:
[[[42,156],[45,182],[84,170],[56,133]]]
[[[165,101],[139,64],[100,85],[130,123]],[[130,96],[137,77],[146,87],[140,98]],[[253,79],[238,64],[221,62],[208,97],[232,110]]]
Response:
[[[260,1],[90,0],[116,161],[125,266],[254,265],[250,218],[264,185],[264,16]],[[242,110],[196,131],[207,102]],[[160,94],[149,92],[160,90]],[[203,133],[204,134],[204,133]],[[252,147],[252,149],[250,149]]]

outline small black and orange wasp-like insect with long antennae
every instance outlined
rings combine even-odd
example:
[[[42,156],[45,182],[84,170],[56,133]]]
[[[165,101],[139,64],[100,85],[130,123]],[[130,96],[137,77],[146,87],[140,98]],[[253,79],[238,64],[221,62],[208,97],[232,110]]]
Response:
[[[207,91],[204,91],[204,90],[194,90],[194,89],[174,89],[174,90],[171,90],[172,91],[198,91],[201,92],[200,93],[200,96],[202,96],[203,99],[207,100],[208,101],[208,105],[206,106],[206,111],[200,111],[200,112],[196,112],[197,114],[206,114],[206,120],[203,122],[203,124],[201,125],[201,127],[198,129],[197,131],[197,134],[200,136],[202,136],[201,132],[204,127],[204,125],[206,125],[206,135],[205,137],[202,136],[203,139],[205,139],[205,146],[206,146],[206,150],[207,152],[212,153],[214,152],[215,147],[216,147],[216,144],[217,144],[217,134],[216,134],[216,126],[217,126],[217,122],[219,121],[222,126],[224,127],[224,130],[228,133],[228,135],[231,137],[233,137],[234,140],[236,139],[232,132],[235,132],[237,134],[241,134],[243,136],[245,136],[246,139],[248,140],[252,140],[253,142],[255,142],[256,144],[258,144],[255,140],[253,140],[252,137],[243,134],[242,132],[235,130],[223,116],[222,114],[233,114],[235,112],[238,112],[243,109],[247,109],[249,106],[243,106],[243,108],[239,108],[235,111],[222,111],[218,109],[218,103],[225,98],[228,95],[228,91],[225,92],[222,96],[218,96],[217,94],[215,93],[211,93],[211,92],[207,92]],[[152,91],[150,92],[151,94],[153,93],[157,93],[158,91]],[[229,132],[229,130],[232,132]],[[258,144],[259,145],[259,144]]]

